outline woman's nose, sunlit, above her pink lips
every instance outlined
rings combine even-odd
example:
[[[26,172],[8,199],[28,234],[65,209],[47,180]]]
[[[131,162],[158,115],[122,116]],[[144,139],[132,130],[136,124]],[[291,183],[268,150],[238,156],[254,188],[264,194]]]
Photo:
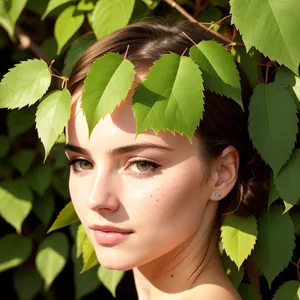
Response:
[[[101,213],[101,211],[114,212],[119,209],[120,202],[117,196],[117,179],[113,174],[104,170],[97,170],[91,183],[91,192],[88,197],[89,209]]]

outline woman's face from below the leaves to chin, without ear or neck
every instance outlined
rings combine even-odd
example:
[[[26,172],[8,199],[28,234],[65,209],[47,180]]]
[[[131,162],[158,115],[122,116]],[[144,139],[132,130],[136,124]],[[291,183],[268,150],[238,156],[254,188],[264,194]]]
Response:
[[[73,97],[66,146],[75,210],[101,265],[144,265],[200,226],[213,189],[200,141],[152,130],[136,137],[132,92],[89,138],[80,94]]]

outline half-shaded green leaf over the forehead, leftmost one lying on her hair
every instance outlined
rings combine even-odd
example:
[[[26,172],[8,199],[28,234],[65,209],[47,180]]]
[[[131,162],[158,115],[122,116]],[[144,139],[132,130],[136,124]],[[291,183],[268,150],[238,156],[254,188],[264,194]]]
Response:
[[[99,120],[125,99],[133,80],[133,64],[117,53],[108,53],[94,62],[82,93],[82,109],[90,134]]]

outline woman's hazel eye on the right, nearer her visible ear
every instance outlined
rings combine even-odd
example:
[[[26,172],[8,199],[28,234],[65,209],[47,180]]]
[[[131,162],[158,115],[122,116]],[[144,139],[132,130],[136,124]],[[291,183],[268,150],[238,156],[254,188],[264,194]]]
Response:
[[[161,165],[143,158],[129,160],[125,167],[133,176],[143,178],[153,175]]]

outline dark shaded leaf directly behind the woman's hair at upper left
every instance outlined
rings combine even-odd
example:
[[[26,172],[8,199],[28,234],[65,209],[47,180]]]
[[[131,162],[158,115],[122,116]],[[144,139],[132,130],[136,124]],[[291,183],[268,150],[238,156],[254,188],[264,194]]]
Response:
[[[95,40],[94,34],[86,35],[80,39],[78,39],[68,50],[65,62],[64,69],[62,73],[65,76],[70,76],[73,67],[78,61],[80,55],[92,44]]]

